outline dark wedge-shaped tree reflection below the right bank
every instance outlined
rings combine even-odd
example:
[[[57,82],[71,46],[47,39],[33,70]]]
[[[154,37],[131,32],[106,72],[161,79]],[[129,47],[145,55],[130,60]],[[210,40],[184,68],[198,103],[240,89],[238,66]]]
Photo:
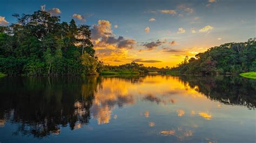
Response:
[[[181,76],[180,81],[221,103],[255,108],[256,80],[240,76]]]

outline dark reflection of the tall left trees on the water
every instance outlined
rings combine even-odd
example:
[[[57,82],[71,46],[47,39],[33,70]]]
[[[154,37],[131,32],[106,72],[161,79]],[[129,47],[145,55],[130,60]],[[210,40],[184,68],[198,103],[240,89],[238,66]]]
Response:
[[[0,81],[0,119],[18,123],[14,134],[44,137],[89,123],[100,77],[8,77]]]

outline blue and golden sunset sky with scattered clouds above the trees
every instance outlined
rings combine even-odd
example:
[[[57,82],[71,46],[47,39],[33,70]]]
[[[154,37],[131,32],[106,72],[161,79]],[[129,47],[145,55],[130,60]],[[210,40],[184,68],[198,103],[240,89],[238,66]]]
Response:
[[[175,66],[186,55],[256,37],[254,0],[198,1],[1,1],[0,25],[14,13],[50,12],[64,22],[91,26],[97,56],[105,64],[136,61]]]

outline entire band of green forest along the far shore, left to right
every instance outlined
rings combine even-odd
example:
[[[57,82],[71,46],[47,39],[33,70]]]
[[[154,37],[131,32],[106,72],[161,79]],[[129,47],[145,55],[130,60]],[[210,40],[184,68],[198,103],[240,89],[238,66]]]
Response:
[[[218,75],[256,71],[256,38],[227,43],[192,58],[185,57],[176,67],[145,67],[136,62],[119,66],[98,60],[88,25],[75,20],[60,23],[59,16],[45,11],[12,15],[16,23],[0,26],[0,77],[56,75]]]

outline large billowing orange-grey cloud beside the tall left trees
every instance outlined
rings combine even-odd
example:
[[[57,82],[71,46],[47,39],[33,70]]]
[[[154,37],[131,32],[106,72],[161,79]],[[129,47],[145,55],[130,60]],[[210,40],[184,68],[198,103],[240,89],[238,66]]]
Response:
[[[113,34],[111,23],[108,20],[98,20],[98,24],[92,26],[91,38],[95,46],[96,53],[104,63],[120,61],[120,59],[132,58],[128,49],[132,49],[136,41],[126,39],[122,36],[116,37]],[[118,27],[116,25],[116,27]]]

